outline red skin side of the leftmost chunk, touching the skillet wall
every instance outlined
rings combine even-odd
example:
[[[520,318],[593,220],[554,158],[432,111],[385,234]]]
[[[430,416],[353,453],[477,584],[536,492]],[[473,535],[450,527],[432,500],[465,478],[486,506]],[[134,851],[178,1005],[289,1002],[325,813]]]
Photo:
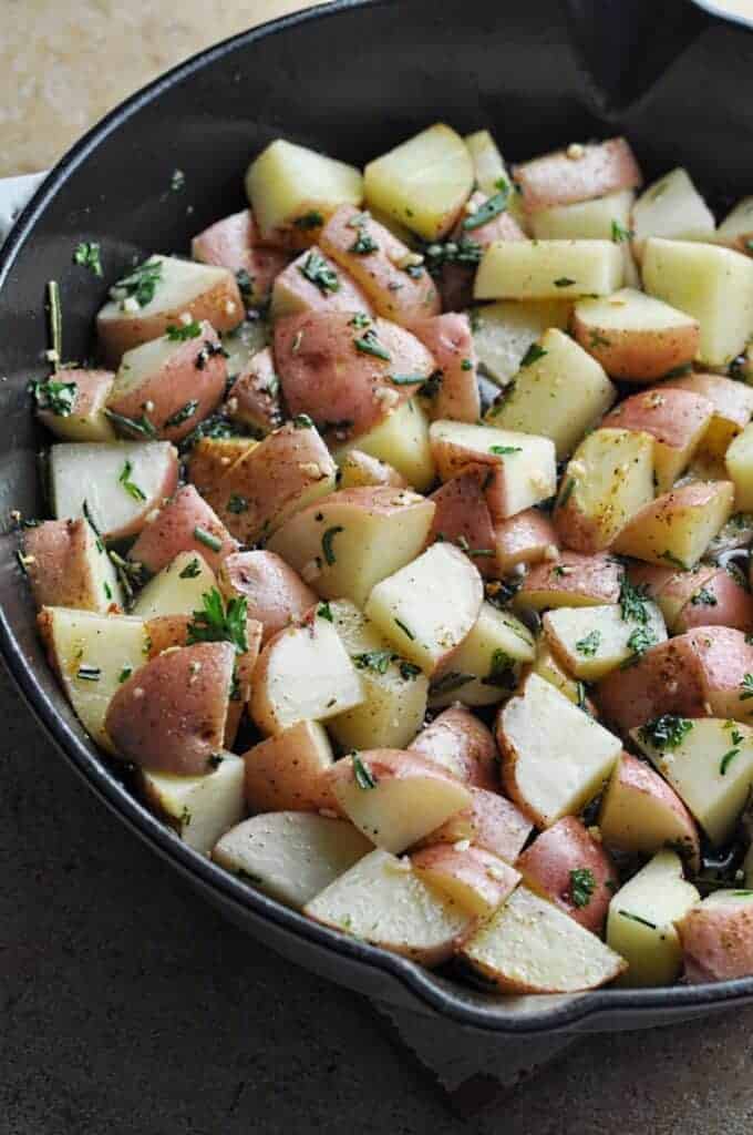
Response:
[[[37,607],[100,611],[87,569],[85,520],[45,520],[24,532],[26,577]],[[117,612],[118,605],[110,605]]]

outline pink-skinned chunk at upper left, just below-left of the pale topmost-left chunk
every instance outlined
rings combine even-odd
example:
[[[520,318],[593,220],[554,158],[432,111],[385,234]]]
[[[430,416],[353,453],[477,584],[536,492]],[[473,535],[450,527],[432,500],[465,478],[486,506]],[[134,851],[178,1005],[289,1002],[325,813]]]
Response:
[[[288,257],[278,249],[261,245],[261,234],[251,209],[223,217],[198,233],[191,242],[194,260],[218,268],[229,268],[238,277],[245,272],[243,299],[248,304],[265,303],[272,291],[272,283],[288,262]]]

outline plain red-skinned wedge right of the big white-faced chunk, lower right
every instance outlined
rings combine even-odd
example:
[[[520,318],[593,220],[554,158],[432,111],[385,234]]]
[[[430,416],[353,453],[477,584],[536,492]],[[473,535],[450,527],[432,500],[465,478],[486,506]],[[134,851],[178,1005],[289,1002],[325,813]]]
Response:
[[[697,872],[699,830],[677,792],[645,760],[623,753],[599,810],[599,830],[608,847],[652,856],[674,848]]]

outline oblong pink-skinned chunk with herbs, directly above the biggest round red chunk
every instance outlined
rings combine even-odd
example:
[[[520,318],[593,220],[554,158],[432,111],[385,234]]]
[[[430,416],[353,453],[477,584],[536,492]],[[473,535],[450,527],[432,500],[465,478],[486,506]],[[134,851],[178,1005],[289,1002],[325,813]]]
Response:
[[[439,313],[439,293],[421,258],[370,213],[342,205],[328,220],[320,241],[324,252],[363,288],[378,316],[412,328],[416,320]],[[369,304],[352,308],[370,310]]]

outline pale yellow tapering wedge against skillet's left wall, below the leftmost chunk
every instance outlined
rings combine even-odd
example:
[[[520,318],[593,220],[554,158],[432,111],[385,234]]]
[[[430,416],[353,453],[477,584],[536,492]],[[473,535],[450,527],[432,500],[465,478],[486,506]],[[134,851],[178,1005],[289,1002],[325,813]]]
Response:
[[[76,715],[92,740],[115,753],[104,718],[121,682],[146,662],[143,620],[67,607],[44,607],[41,620],[42,633]]]

